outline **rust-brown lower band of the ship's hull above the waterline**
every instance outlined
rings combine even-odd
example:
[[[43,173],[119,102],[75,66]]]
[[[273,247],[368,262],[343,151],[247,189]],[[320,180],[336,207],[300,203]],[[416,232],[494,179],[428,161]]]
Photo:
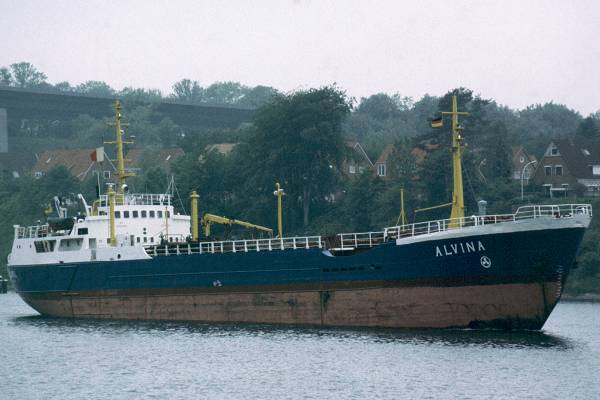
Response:
[[[393,328],[540,329],[559,282],[473,286],[188,289],[24,294],[43,315]]]

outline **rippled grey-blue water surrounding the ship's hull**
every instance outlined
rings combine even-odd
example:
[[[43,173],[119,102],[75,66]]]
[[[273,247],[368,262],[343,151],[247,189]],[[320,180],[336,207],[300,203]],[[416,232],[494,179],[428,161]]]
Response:
[[[600,399],[600,304],[543,333],[41,318],[0,295],[0,399]]]

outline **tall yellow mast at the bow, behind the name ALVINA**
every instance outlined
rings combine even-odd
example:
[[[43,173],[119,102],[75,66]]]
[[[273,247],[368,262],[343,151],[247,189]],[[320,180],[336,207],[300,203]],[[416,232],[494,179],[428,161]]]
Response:
[[[465,199],[463,196],[463,182],[462,182],[462,165],[461,165],[461,154],[460,147],[462,137],[460,132],[462,127],[458,123],[459,115],[469,115],[467,112],[459,112],[456,105],[456,95],[452,96],[452,111],[442,111],[442,115],[452,116],[452,171],[454,188],[452,191],[452,211],[450,212],[450,218],[463,218],[465,216]],[[450,227],[460,226],[460,222],[457,220],[451,222]]]

